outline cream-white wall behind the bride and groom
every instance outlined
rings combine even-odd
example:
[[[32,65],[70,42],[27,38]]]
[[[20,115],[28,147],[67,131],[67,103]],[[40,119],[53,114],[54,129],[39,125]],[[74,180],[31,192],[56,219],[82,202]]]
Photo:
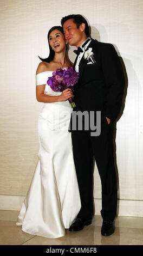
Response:
[[[38,55],[49,53],[47,33],[68,14],[82,14],[92,38],[112,43],[126,66],[127,96],[116,125],[119,215],[143,216],[142,188],[142,0],[1,0],[1,187],[0,209],[20,210],[38,154],[35,97]],[[74,61],[74,47],[69,57]],[[95,166],[95,214],[101,209],[101,183]]]

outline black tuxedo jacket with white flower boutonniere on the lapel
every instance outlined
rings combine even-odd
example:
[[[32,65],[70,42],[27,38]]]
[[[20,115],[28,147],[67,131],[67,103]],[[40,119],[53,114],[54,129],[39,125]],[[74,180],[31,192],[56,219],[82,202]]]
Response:
[[[75,85],[76,111],[101,111],[111,120],[120,112],[124,93],[124,72],[118,54],[112,44],[92,39],[94,64],[82,59],[79,64],[79,81]],[[74,68],[77,57],[74,62]]]

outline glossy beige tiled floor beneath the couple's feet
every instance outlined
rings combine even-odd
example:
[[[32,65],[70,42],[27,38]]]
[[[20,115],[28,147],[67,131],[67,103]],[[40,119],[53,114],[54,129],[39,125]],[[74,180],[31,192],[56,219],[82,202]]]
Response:
[[[24,233],[16,226],[18,211],[0,211],[0,245],[143,245],[143,218],[117,217],[115,233],[101,236],[102,218],[95,215],[91,225],[57,239]]]

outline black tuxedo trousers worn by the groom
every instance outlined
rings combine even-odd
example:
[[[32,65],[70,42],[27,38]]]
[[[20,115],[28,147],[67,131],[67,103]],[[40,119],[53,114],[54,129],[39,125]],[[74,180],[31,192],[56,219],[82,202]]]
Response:
[[[77,217],[90,219],[93,207],[93,157],[99,170],[102,186],[103,220],[113,221],[116,216],[117,187],[113,156],[113,124],[101,118],[100,136],[90,131],[72,131],[73,154],[79,183],[81,210]]]

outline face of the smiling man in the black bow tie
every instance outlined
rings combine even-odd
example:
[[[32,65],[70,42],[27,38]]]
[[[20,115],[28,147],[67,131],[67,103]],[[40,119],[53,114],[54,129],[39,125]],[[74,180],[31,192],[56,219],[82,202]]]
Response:
[[[80,42],[82,40],[82,25],[77,28],[76,24],[73,22],[73,19],[69,19],[64,22],[63,24],[63,31],[66,40],[69,42],[70,45],[73,46],[80,46]]]

